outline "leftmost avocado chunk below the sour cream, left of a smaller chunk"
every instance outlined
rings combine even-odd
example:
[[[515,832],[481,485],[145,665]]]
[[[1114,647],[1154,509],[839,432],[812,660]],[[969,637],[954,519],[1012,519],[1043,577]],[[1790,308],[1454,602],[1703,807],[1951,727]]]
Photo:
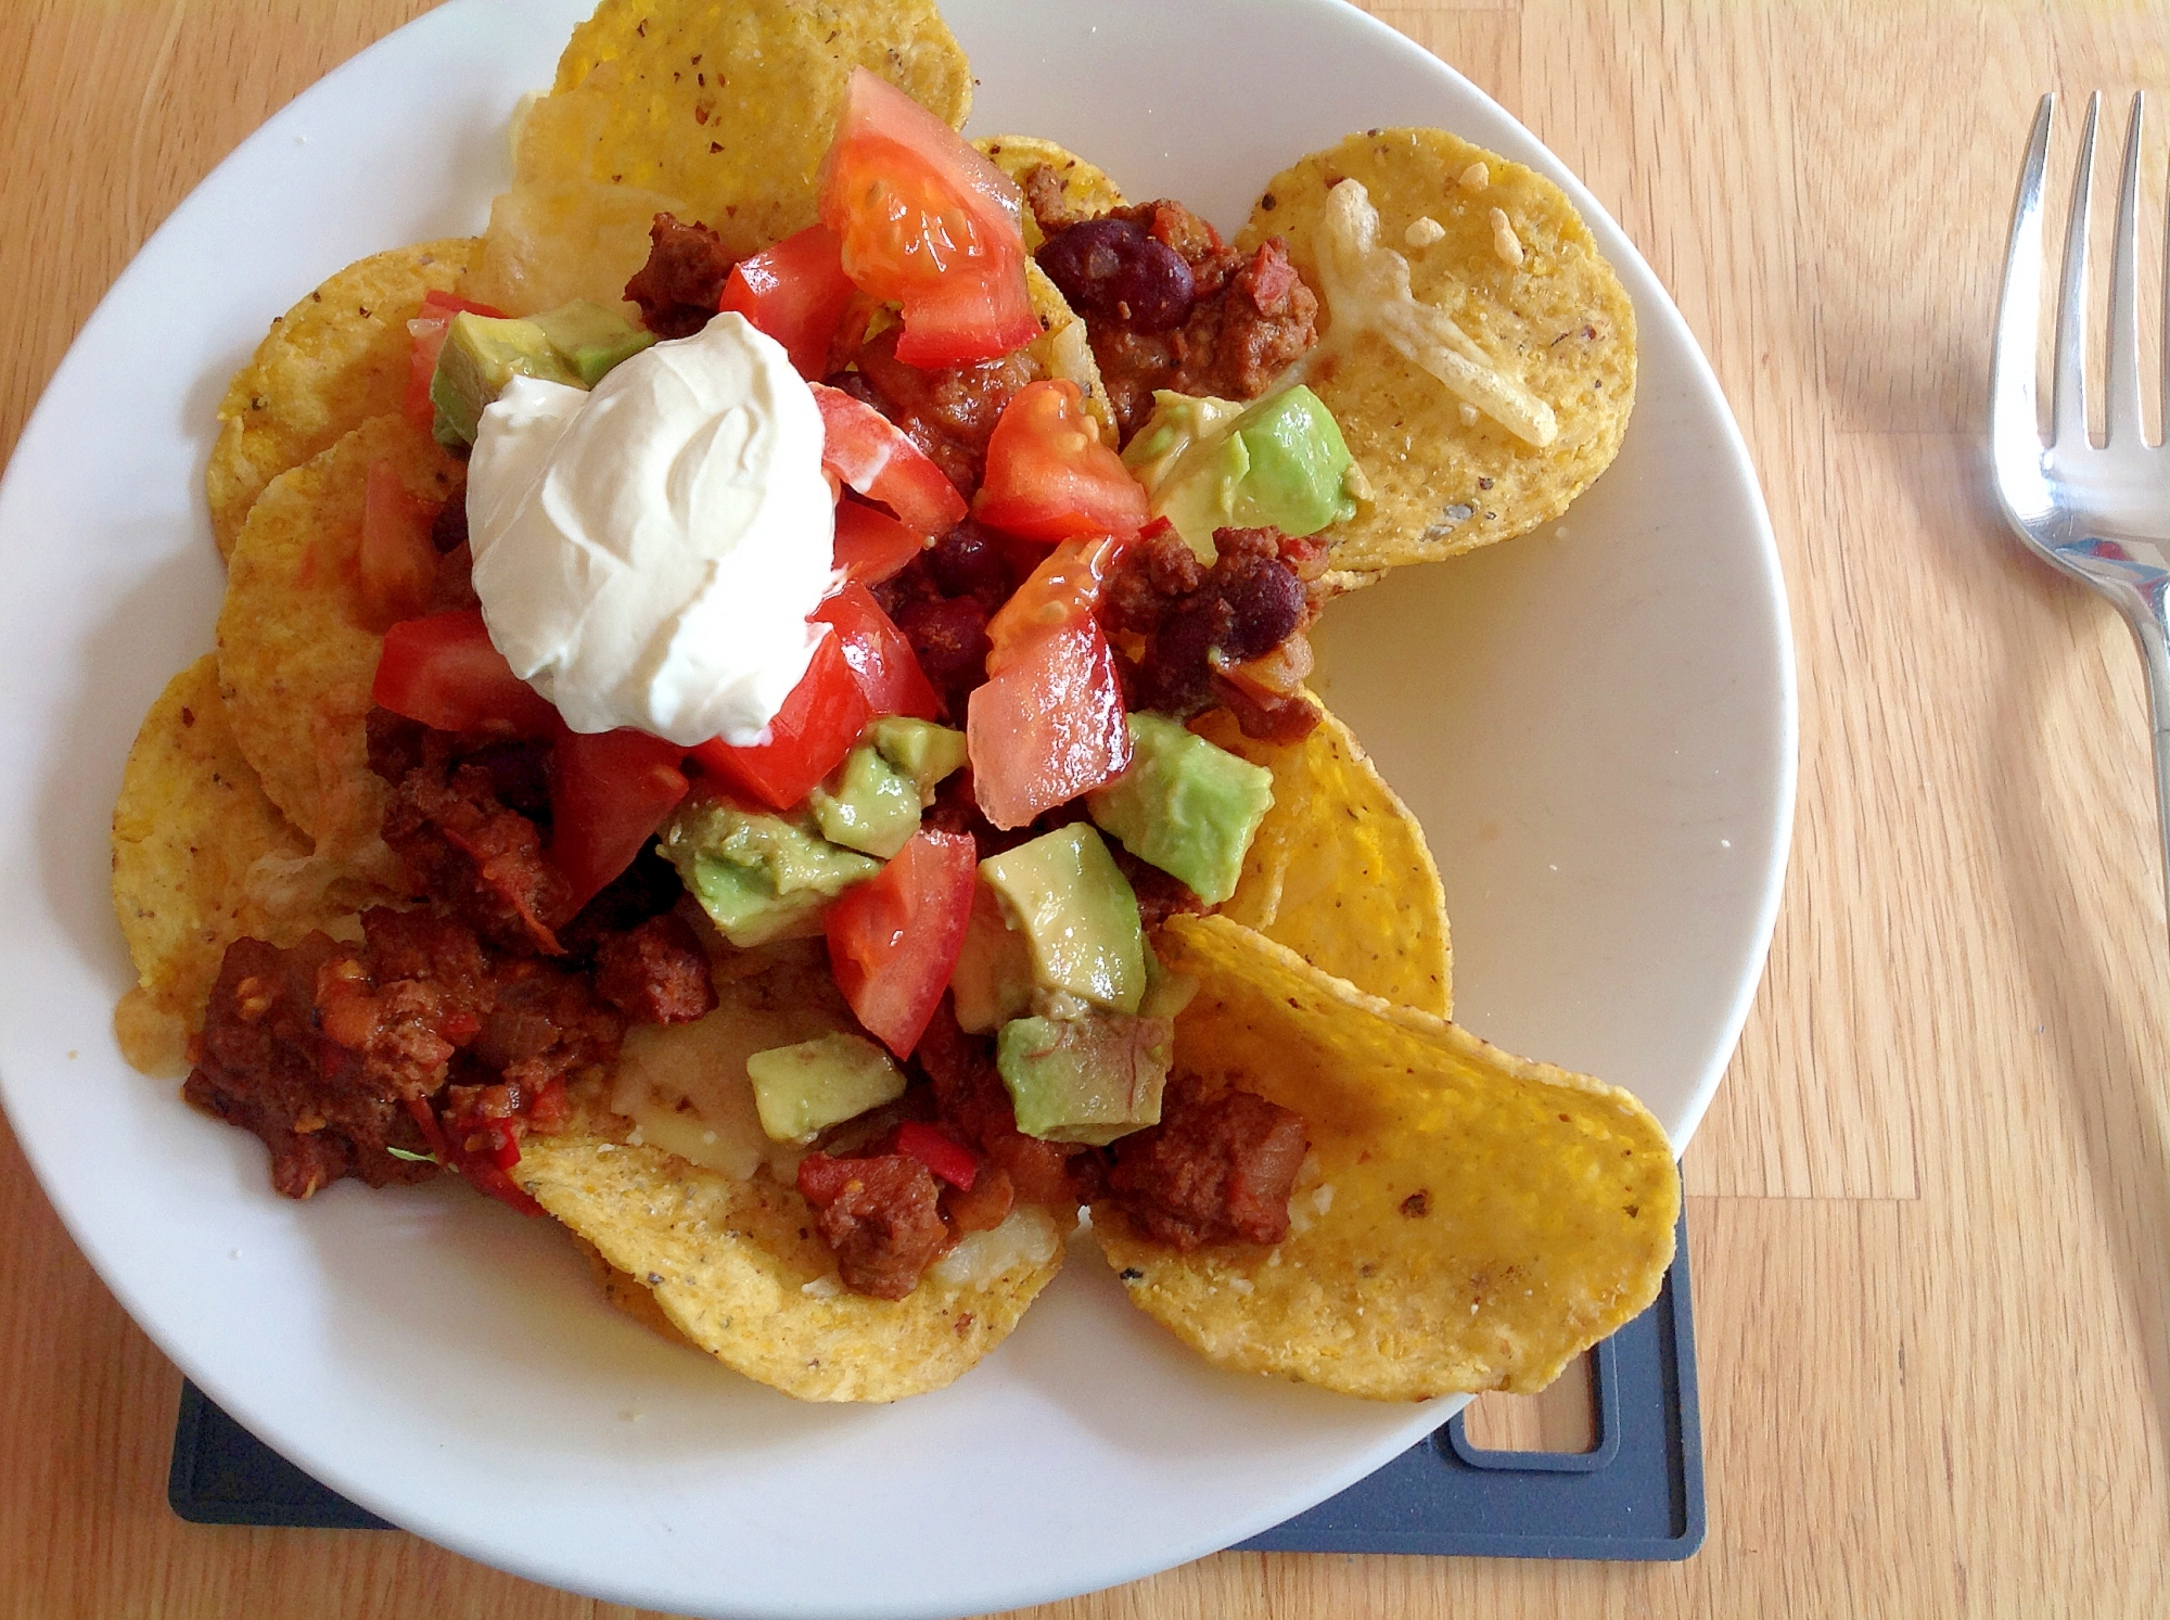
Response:
[[[662,851],[738,947],[818,934],[822,906],[881,871],[879,860],[822,838],[812,817],[707,795],[688,799],[664,823]]]

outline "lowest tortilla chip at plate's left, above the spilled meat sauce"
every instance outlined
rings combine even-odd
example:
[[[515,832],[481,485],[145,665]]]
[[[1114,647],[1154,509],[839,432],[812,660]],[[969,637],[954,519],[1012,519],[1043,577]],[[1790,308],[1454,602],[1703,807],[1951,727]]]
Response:
[[[295,945],[371,899],[354,873],[310,856],[263,795],[226,721],[217,660],[204,654],[174,675],[143,717],[113,806],[113,910],[137,969],[128,1016],[145,1038],[156,1021],[202,1027],[234,940]],[[148,1055],[139,1040],[126,1051]]]

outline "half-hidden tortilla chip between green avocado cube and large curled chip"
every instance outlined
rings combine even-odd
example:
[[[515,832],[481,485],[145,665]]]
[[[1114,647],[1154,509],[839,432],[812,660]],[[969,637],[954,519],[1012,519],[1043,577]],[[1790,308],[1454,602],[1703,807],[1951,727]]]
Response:
[[[1220,914],[1395,1005],[1454,1012],[1447,897],[1424,827],[1332,714],[1302,743],[1243,736],[1213,710],[1209,743],[1274,773],[1243,877]]]

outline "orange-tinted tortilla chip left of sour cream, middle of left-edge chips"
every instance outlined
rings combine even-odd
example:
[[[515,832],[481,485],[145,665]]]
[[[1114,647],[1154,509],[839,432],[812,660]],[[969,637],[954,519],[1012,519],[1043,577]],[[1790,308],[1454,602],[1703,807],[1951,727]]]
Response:
[[[371,463],[399,469],[427,506],[458,495],[462,469],[406,417],[373,417],[256,499],[228,562],[219,693],[241,754],[319,856],[362,860],[391,882],[378,838],[384,784],[362,721],[384,636],[362,621],[356,552]]]

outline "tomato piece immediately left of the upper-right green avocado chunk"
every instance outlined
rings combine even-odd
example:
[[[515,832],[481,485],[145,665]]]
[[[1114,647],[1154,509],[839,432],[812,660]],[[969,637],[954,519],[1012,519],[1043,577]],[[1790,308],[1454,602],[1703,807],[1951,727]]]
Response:
[[[1146,523],[1146,491],[1131,478],[1076,382],[1029,382],[987,439],[987,478],[972,517],[1031,541],[1072,534],[1131,539]]]

